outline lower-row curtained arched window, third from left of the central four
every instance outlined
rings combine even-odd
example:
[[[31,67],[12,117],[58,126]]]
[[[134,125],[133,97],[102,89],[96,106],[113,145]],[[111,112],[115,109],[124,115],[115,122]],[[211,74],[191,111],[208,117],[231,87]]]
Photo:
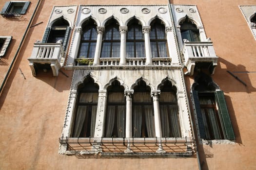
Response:
[[[156,137],[150,87],[143,80],[134,87],[132,110],[132,136]]]

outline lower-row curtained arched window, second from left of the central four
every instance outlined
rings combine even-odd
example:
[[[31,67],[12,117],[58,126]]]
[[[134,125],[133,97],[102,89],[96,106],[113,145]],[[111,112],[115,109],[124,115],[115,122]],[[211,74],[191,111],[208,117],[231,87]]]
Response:
[[[125,137],[124,87],[115,80],[108,88],[105,137]]]

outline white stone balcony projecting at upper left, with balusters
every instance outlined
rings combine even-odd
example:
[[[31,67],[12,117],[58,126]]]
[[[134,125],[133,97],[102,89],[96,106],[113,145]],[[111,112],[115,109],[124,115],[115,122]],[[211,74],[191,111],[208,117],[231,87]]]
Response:
[[[50,66],[53,76],[58,76],[59,68],[64,62],[64,50],[61,43],[35,43],[31,54],[28,58],[29,66],[33,76],[36,76],[37,65]],[[46,68],[43,68],[46,70]]]

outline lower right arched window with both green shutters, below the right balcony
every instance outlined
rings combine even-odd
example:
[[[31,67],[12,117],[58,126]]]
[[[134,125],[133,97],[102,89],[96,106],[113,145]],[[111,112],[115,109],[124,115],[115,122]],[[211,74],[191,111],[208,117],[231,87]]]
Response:
[[[195,77],[192,89],[200,138],[235,139],[223,91],[205,73]]]

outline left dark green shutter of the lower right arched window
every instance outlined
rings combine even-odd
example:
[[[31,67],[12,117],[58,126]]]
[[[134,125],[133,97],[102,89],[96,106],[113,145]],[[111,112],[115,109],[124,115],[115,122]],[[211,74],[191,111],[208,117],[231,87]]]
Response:
[[[192,90],[192,95],[193,95],[194,104],[195,104],[195,108],[194,109],[195,109],[195,111],[197,113],[197,122],[198,122],[200,138],[205,139],[206,135],[205,135],[204,124],[203,124],[203,117],[202,117],[202,113],[201,113],[201,108],[200,108],[200,103],[199,103],[199,99],[198,99],[197,90]]]

